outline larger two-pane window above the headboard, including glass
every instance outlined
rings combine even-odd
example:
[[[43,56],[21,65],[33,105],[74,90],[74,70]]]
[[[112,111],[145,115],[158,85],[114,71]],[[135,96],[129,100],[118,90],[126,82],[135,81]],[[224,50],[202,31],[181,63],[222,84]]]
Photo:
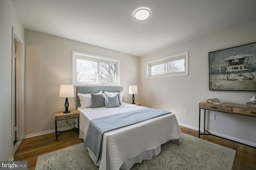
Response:
[[[72,84],[120,85],[120,60],[72,51]]]

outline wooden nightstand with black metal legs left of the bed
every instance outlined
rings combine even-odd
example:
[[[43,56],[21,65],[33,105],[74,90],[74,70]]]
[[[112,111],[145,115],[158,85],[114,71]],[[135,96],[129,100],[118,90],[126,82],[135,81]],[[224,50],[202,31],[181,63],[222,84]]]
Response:
[[[74,131],[75,130],[75,126],[72,127],[67,119],[72,119],[72,118],[76,118],[78,117],[78,134],[79,134],[79,112],[77,110],[71,110],[70,113],[63,113],[63,111],[60,112],[55,112],[55,135],[56,135],[56,141],[58,141],[58,136],[60,136],[60,134],[64,133],[64,132],[68,132],[68,131]],[[57,121],[59,120],[66,120],[66,122],[68,123],[68,125],[70,125],[70,127],[72,127],[71,130],[68,131],[57,131]],[[57,134],[60,133],[60,134]]]

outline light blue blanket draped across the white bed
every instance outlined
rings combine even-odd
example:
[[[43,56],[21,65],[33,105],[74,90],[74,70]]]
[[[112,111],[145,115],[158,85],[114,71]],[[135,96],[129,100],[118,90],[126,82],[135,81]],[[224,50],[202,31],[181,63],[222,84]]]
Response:
[[[102,154],[102,140],[105,132],[139,123],[141,121],[152,119],[168,113],[171,112],[148,108],[92,119],[89,123],[84,146],[92,150],[98,162]]]

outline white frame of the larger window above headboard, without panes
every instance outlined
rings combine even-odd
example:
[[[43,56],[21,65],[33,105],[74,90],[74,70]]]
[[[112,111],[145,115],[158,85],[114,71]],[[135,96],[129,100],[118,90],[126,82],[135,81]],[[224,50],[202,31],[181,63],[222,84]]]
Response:
[[[76,80],[76,59],[116,64],[116,82],[98,82],[98,73],[97,82],[78,82]],[[120,63],[119,59],[72,50],[72,84],[74,86],[120,86]]]

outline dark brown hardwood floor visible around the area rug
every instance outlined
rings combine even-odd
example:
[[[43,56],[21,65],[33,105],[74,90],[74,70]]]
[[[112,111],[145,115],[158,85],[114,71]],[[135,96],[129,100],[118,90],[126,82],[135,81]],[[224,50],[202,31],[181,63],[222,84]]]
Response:
[[[180,129],[183,133],[198,137],[198,131],[196,130],[182,126],[180,126]],[[201,138],[237,150],[233,170],[256,170],[255,148],[209,135],[202,135]],[[75,131],[62,133],[58,137],[58,141],[56,141],[55,133],[27,138],[22,141],[14,154],[14,160],[26,160],[28,161],[28,170],[34,170],[38,156],[82,142],[83,140],[78,139],[78,133]]]

